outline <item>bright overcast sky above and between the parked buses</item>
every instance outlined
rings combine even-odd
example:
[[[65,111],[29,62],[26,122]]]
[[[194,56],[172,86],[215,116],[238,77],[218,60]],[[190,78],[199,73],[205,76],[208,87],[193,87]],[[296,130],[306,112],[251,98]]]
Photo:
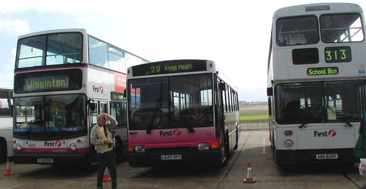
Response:
[[[239,100],[266,101],[272,15],[318,0],[119,0],[0,2],[0,84],[13,84],[17,37],[85,28],[149,61],[209,59],[239,88]],[[332,2],[344,2],[332,0]],[[364,9],[366,0],[349,0]]]

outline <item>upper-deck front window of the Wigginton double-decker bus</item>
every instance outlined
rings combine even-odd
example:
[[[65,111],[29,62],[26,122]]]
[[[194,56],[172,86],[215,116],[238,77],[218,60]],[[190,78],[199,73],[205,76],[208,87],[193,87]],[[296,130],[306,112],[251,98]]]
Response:
[[[81,33],[52,33],[19,39],[16,67],[25,68],[55,64],[80,63]]]

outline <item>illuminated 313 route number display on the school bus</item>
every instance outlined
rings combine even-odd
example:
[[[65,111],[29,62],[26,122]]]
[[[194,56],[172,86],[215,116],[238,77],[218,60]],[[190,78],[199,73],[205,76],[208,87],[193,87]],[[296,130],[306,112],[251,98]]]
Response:
[[[325,61],[333,62],[350,62],[351,48],[349,46],[343,47],[326,47],[324,49]]]

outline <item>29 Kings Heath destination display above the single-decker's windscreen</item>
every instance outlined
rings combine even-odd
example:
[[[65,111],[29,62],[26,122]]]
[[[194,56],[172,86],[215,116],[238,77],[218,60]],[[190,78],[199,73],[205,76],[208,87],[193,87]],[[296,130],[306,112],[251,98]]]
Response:
[[[206,71],[206,60],[173,60],[132,67],[133,76]]]

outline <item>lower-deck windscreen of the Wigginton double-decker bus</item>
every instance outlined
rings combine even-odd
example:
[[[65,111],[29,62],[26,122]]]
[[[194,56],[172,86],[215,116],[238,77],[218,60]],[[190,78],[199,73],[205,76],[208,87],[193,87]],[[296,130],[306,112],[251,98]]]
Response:
[[[14,135],[47,138],[85,133],[85,103],[80,94],[14,98]]]

